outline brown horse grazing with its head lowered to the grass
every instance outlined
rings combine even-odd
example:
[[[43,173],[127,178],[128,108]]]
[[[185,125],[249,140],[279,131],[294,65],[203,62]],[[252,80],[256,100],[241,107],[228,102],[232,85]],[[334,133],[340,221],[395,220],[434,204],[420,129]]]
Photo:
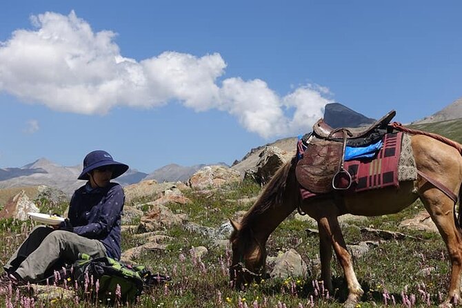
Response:
[[[411,140],[417,169],[459,195],[460,199],[462,157],[458,149],[425,135],[412,135]],[[230,278],[237,287],[263,276],[268,237],[292,211],[299,208],[318,223],[321,279],[324,285],[332,291],[330,261],[333,248],[348,284],[345,306],[354,307],[363,289],[354,273],[352,257],[343,239],[338,216],[345,213],[367,216],[398,213],[420,198],[438,227],[450,257],[452,269],[448,297],[442,305],[451,306],[452,302],[460,302],[462,233],[459,222],[456,222],[454,201],[447,194],[419,176],[415,181],[401,182],[398,189],[388,187],[344,195],[341,202],[339,196],[334,199],[333,194],[302,200],[295,175],[296,165],[296,157],[283,165],[241,223],[231,221],[234,231],[230,236]]]

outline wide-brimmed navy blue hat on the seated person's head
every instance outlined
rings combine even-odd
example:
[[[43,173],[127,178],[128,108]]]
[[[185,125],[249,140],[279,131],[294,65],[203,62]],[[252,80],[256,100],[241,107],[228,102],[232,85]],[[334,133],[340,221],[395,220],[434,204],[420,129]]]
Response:
[[[119,177],[128,170],[128,165],[122,164],[121,162],[116,162],[114,159],[112,159],[112,156],[108,152],[97,150],[88,153],[83,159],[83,170],[78,179],[90,180],[88,173],[102,166],[112,167],[111,180]]]

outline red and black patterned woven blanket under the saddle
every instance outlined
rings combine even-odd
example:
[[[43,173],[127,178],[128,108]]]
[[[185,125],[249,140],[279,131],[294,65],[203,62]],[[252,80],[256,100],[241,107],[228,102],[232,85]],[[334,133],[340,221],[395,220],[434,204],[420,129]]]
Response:
[[[387,133],[383,137],[383,147],[375,157],[345,162],[344,167],[352,177],[352,185],[344,192],[354,193],[387,186],[399,187],[398,165],[402,137],[401,132]],[[321,195],[301,185],[300,193],[303,199]]]

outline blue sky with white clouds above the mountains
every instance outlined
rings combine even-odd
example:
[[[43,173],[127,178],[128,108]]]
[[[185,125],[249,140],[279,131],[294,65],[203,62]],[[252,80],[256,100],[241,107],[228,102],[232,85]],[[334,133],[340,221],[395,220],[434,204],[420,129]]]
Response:
[[[338,102],[407,123],[462,96],[460,1],[3,1],[0,168],[106,149],[232,164]],[[295,145],[294,145],[295,146]]]

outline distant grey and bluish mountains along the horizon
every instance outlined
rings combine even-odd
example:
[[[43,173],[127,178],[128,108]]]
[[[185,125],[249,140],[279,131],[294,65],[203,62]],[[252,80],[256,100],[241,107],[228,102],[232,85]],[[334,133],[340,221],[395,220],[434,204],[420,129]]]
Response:
[[[462,98],[457,99],[443,110],[425,117],[413,124],[425,124],[430,122],[447,121],[462,117]],[[365,117],[361,113],[357,113],[342,104],[327,104],[324,110],[324,120],[333,128],[337,127],[359,127],[371,124],[375,119]],[[306,132],[308,133],[308,132]],[[241,173],[246,169],[255,166],[259,160],[259,154],[265,146],[278,146],[292,155],[295,150],[296,137],[289,137],[277,140],[264,146],[252,148],[241,160],[236,160],[232,164],[233,169],[237,169]],[[225,163],[217,164],[226,166]],[[208,164],[211,165],[211,164]],[[136,169],[128,169],[126,173],[117,178],[116,182],[121,185],[129,185],[140,182],[142,180],[157,180],[157,182],[185,182],[196,171],[207,166],[206,164],[197,164],[194,166],[180,166],[178,164],[168,164],[152,173],[144,173]],[[67,194],[79,188],[84,182],[76,180],[81,173],[82,165],[77,166],[59,166],[54,162],[50,162],[46,158],[41,158],[31,164],[26,164],[21,168],[5,168],[0,169],[0,189],[12,188],[19,186],[37,186],[47,185],[61,189]]]

